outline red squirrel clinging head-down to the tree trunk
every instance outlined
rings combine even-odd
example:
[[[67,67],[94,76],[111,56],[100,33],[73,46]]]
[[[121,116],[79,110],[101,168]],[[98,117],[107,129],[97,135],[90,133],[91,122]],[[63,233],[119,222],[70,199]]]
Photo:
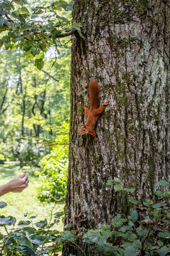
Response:
[[[100,87],[97,83],[97,81],[91,81],[89,83],[89,99],[90,99],[90,109],[86,108],[85,106],[83,109],[85,110],[85,117],[87,118],[86,124],[83,126],[80,126],[80,133],[86,135],[90,133],[93,135],[95,140],[96,134],[94,131],[94,127],[97,121],[97,118],[102,115],[104,110],[104,105],[108,104],[108,101],[102,103],[102,105],[99,107],[100,103]]]

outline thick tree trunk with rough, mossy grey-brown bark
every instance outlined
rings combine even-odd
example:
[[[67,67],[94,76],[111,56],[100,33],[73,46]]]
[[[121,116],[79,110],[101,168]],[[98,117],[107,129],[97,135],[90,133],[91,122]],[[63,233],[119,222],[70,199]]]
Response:
[[[168,180],[170,4],[75,0],[73,19],[82,23],[85,39],[74,37],[72,46],[65,224],[91,229],[130,207],[107,180],[121,178],[138,200],[153,198],[157,181]],[[95,126],[97,142],[79,134],[91,79],[99,82],[101,102],[109,100]],[[66,245],[63,255],[70,253],[83,255]]]

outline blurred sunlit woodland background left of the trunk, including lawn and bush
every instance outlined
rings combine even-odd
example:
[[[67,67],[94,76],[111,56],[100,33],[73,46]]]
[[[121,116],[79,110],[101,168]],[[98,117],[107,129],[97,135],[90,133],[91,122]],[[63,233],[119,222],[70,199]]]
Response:
[[[62,9],[60,13],[71,20],[71,11]],[[0,165],[0,184],[22,171],[27,171],[31,181],[22,194],[2,198],[8,204],[3,213],[13,212],[18,218],[24,213],[34,214],[40,220],[43,215],[50,215],[53,203],[49,202],[65,196],[70,117],[69,40],[61,39],[63,46],[49,49],[41,72],[22,49],[0,49],[0,160],[20,161],[20,166]],[[29,200],[23,206],[25,197]]]

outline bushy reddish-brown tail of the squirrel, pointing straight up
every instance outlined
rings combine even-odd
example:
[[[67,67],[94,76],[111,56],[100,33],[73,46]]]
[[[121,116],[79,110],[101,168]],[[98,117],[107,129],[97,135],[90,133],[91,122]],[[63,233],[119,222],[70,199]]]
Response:
[[[98,108],[100,103],[100,87],[96,80],[89,83],[90,109]]]

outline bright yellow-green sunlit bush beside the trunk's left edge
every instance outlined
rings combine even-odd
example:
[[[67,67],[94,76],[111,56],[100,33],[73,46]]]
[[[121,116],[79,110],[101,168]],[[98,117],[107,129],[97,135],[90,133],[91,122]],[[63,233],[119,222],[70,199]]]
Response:
[[[43,182],[38,197],[41,201],[55,201],[65,197],[68,169],[69,126],[64,121],[62,126],[44,126],[56,132],[55,141],[41,141],[52,148],[51,152],[43,157],[39,163],[42,168],[38,175]]]

